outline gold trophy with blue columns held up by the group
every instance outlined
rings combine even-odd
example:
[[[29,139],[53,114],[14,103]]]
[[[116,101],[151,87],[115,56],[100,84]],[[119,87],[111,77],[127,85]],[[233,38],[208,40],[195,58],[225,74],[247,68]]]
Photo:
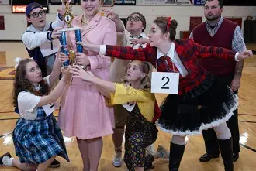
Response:
[[[64,14],[64,22],[67,24],[67,28],[65,29],[61,29],[61,52],[65,53],[66,56],[69,57],[69,60],[67,60],[66,62],[63,63],[63,65],[65,67],[67,67],[68,65],[74,65],[75,62],[75,53],[74,50],[66,50],[65,46],[67,46],[67,35],[66,32],[70,32],[73,31],[75,33],[75,39],[76,42],[81,42],[81,27],[72,27],[71,23],[74,19],[74,14],[71,13],[71,6],[69,6],[69,4],[67,3],[68,0],[62,0],[62,2],[64,3],[64,5],[66,6],[66,12]],[[77,51],[79,53],[83,53],[83,48],[81,45],[77,44]]]

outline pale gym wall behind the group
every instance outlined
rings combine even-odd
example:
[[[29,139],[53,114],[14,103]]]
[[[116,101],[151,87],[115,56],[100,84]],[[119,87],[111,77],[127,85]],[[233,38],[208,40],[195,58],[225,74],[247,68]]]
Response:
[[[56,17],[58,5],[50,5],[50,13],[47,14],[49,22],[54,21]],[[131,12],[141,12],[147,20],[147,29],[150,22],[157,16],[169,15],[171,19],[178,21],[177,38],[179,38],[179,31],[189,30],[189,17],[202,16],[202,6],[121,6],[116,5],[113,8],[119,13],[120,17],[126,18]],[[73,6],[74,14],[81,14],[80,5]],[[0,5],[0,15],[5,16],[5,30],[0,30],[0,40],[20,40],[22,33],[26,30],[26,15],[12,14],[11,5]],[[224,7],[223,16],[226,17],[242,17],[243,23],[248,15],[256,16],[256,7]],[[243,29],[243,28],[242,28]]]

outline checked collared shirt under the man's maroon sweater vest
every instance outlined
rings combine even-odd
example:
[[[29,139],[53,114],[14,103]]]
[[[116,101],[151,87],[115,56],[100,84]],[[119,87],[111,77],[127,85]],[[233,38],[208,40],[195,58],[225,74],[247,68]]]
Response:
[[[220,29],[223,19],[224,19],[223,16],[221,16],[219,22],[216,24],[216,26],[213,29],[211,26],[209,26],[209,23],[206,21],[206,29],[207,29],[207,32],[209,32],[210,36],[214,36],[218,31],[218,29]],[[191,32],[190,38],[193,38],[193,32]],[[243,32],[240,29],[240,26],[237,26],[236,29],[234,30],[234,36],[232,39],[232,50],[236,52],[243,52],[244,50],[246,50],[246,46],[244,43],[244,36],[243,36]]]

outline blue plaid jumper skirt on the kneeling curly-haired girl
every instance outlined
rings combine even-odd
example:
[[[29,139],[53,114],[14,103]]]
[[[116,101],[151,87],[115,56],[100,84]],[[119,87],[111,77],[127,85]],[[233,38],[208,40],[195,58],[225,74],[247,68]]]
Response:
[[[46,116],[43,108],[37,108],[35,121],[19,118],[12,138],[16,156],[22,163],[40,164],[53,156],[69,162],[61,129],[54,115]]]

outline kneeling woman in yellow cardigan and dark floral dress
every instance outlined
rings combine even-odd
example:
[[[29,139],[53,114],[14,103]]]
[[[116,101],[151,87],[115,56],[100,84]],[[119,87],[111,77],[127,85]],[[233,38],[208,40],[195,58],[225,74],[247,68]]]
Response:
[[[125,132],[124,162],[130,171],[152,169],[154,159],[167,158],[168,151],[159,145],[154,155],[145,154],[145,148],[157,139],[154,125],[154,94],[150,93],[150,81],[147,77],[150,67],[147,62],[133,60],[129,63],[124,84],[116,84],[94,77],[80,66],[71,68],[73,77],[89,81],[98,87],[108,99],[109,104],[123,104],[130,115],[127,118]]]

